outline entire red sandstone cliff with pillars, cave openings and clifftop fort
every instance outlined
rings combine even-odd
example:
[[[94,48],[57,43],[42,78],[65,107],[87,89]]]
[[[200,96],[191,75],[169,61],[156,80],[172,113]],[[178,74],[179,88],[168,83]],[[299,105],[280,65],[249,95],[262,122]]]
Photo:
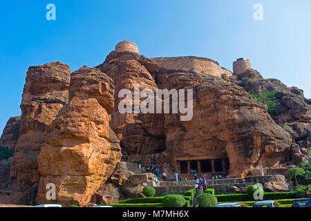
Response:
[[[120,113],[122,89],[132,93],[133,104],[144,102],[135,99],[144,89],[192,90],[193,117],[181,121],[180,113],[135,108]],[[13,159],[0,166],[0,188],[6,189],[0,202],[35,204],[37,198],[86,206],[137,196],[142,185],[134,183],[142,177],[122,171],[121,155],[123,161],[159,164],[171,176],[182,165],[189,173],[192,162],[200,171],[201,162],[215,160],[228,177],[255,175],[259,165],[281,174],[310,160],[310,105],[303,90],[263,79],[248,60],[235,61],[232,73],[207,58],[149,59],[129,41],[117,44],[103,64],[84,66],[71,77],[60,62],[30,67],[17,144],[18,123],[8,124],[1,138],[16,147]],[[216,173],[214,166],[209,173]],[[54,201],[46,199],[50,183],[56,186]]]

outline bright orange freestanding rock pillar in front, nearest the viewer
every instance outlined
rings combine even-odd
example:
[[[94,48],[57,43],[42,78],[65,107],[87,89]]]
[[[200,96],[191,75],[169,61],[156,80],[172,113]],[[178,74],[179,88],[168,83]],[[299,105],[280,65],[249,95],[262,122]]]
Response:
[[[46,186],[56,185],[57,202],[85,206],[120,161],[119,140],[109,127],[114,84],[104,73],[86,66],[72,73],[69,102],[44,136],[38,157],[41,175],[37,201]]]

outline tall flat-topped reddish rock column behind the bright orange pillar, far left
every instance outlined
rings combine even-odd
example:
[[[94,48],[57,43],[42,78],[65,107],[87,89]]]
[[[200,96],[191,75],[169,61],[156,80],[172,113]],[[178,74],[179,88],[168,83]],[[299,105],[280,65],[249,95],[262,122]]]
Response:
[[[12,188],[26,191],[39,182],[37,156],[44,133],[66,104],[69,66],[61,62],[29,68],[21,102],[20,137],[10,177]]]

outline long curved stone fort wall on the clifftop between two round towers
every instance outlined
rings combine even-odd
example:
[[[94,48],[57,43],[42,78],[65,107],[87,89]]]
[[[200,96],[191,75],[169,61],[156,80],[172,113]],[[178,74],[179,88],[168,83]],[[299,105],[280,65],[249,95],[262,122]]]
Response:
[[[221,75],[225,73],[228,77],[232,76],[229,70],[221,68],[216,61],[204,57],[155,57],[152,60],[159,66],[164,66],[169,69],[185,68],[206,75],[221,77]]]

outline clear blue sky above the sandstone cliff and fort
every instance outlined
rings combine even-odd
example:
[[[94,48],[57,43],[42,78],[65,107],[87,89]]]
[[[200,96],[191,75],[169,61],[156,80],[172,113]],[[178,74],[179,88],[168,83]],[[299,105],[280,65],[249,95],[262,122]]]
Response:
[[[46,19],[48,3],[56,21]],[[263,21],[253,19],[255,3]],[[244,57],[310,98],[310,11],[310,0],[0,1],[0,133],[21,114],[28,66],[96,66],[123,40],[147,57],[209,57],[229,70]]]

